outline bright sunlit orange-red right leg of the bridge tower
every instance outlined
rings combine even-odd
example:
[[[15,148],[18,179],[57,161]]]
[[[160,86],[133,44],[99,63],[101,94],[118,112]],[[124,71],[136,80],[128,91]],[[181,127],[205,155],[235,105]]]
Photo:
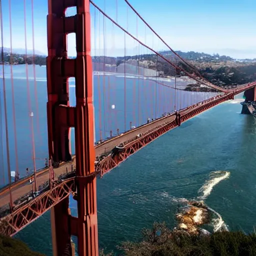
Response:
[[[98,255],[96,176],[94,173],[94,106],[90,55],[89,0],[76,1],[75,157],[77,249],[79,256]]]

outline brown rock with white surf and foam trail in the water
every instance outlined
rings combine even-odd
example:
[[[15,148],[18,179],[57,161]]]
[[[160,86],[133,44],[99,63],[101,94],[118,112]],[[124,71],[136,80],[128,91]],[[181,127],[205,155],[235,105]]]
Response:
[[[175,229],[183,230],[187,233],[209,233],[207,230],[200,228],[202,224],[208,224],[213,227],[213,232],[228,231],[228,226],[223,221],[221,215],[214,209],[208,207],[204,200],[210,195],[213,187],[220,181],[227,179],[229,171],[212,171],[209,179],[198,190],[198,196],[195,199],[172,198],[173,201],[181,204],[180,212],[176,214],[177,227]]]

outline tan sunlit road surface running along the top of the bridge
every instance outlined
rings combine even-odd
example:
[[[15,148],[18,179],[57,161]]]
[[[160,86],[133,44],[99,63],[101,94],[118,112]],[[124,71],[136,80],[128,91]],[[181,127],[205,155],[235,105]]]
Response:
[[[245,86],[239,86],[239,89],[234,91],[234,94],[240,93],[244,89],[248,89],[250,87],[253,87],[256,85],[256,82],[246,84]],[[222,95],[217,95],[215,97],[212,97],[208,100],[205,100],[199,104],[195,104],[192,106],[189,106],[187,108],[184,108],[179,111],[180,115],[185,115],[192,110],[201,107],[204,104],[208,104],[209,102],[214,102],[216,98],[223,97],[223,95],[227,95],[233,92],[228,92],[224,93]],[[120,143],[125,143],[127,141],[132,140],[134,137],[136,137],[137,134],[144,134],[148,132],[149,130],[156,129],[159,127],[161,124],[166,123],[166,122],[172,122],[175,120],[175,113],[171,113],[170,115],[160,117],[158,119],[155,119],[154,121],[151,121],[149,123],[143,124],[135,129],[126,131],[118,136],[112,137],[101,144],[98,144],[95,146],[95,155],[99,156],[103,154],[104,152],[108,152],[112,150],[116,145],[119,145]],[[71,169],[71,165],[75,165],[75,156],[73,156],[73,162],[69,163],[61,163],[58,168],[54,168],[54,172],[56,176],[59,176],[60,174],[63,174],[66,172],[66,168],[68,171]],[[29,183],[29,179],[31,176],[26,177],[16,183],[13,183],[11,185],[11,195],[12,195],[12,200],[15,201],[18,199],[20,196],[28,193],[31,191],[31,184]],[[40,170],[37,172],[37,186],[43,184],[45,181],[47,181],[49,178],[49,171],[48,169]],[[0,190],[0,207],[6,205],[9,202],[9,189],[8,187],[3,188]]]

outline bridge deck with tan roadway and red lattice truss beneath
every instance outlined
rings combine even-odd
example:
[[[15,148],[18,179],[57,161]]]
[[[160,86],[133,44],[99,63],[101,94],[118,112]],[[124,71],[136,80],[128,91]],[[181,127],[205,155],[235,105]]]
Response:
[[[232,99],[234,94],[238,94],[239,92],[241,92],[241,90],[217,95],[179,111],[180,115],[173,113],[161,117],[95,146],[96,155],[98,156],[104,152],[110,151],[114,146],[125,142],[123,150],[117,154],[108,155],[104,158],[100,157],[100,159],[98,159],[99,163],[95,165],[96,173],[102,176],[120,164],[120,162],[124,161],[129,155],[147,145],[158,136],[177,127],[182,122],[192,118],[193,116],[223,101]],[[141,134],[141,136],[137,137],[137,134]],[[66,167],[70,170],[71,164],[75,164],[75,157],[72,163],[62,163],[59,168],[54,169],[55,174],[59,175],[65,173]],[[38,185],[43,184],[48,180],[48,173],[47,169],[38,173]],[[31,184],[28,184],[28,179],[29,177],[26,180],[20,180],[20,182],[12,185],[11,191],[14,200],[31,191]],[[34,199],[23,201],[22,204],[17,205],[16,209],[12,213],[9,213],[8,211],[2,212],[5,216],[0,218],[0,233],[10,236],[17,233],[20,229],[34,221],[52,206],[66,198],[70,193],[72,193],[72,191],[74,191],[73,189],[74,175],[71,175],[69,178],[54,182],[52,189],[44,190]],[[6,205],[8,201],[8,189],[5,188],[0,191],[0,206]],[[4,206],[4,208],[5,207],[6,206]]]

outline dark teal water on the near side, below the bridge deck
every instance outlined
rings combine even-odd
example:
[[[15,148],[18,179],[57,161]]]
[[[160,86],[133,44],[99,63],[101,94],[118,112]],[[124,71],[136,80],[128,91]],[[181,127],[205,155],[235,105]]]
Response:
[[[25,82],[19,79],[17,83],[24,87]],[[38,97],[39,122],[45,126],[45,77],[41,83],[38,81],[39,85],[44,86]],[[22,98],[22,95],[20,92],[18,96]],[[117,244],[139,240],[141,229],[151,227],[154,221],[175,226],[175,213],[187,199],[203,199],[212,209],[214,217],[205,227],[210,231],[221,228],[253,231],[256,224],[256,126],[253,116],[240,114],[242,100],[240,94],[234,100],[195,116],[97,180],[101,248],[118,253]],[[16,111],[21,111],[21,107]],[[36,124],[34,126],[36,130]],[[17,132],[21,131],[25,128]],[[36,150],[43,158],[47,156],[46,130],[40,128],[38,134],[41,141],[36,140]],[[19,144],[21,142],[25,143],[25,138]],[[29,137],[27,144],[30,144]],[[23,161],[31,159],[29,153],[23,150]],[[38,160],[37,164],[40,163]],[[19,160],[19,166],[24,164],[27,163]],[[70,208],[72,214],[76,214],[72,199]],[[49,212],[16,237],[32,249],[52,255]]]

